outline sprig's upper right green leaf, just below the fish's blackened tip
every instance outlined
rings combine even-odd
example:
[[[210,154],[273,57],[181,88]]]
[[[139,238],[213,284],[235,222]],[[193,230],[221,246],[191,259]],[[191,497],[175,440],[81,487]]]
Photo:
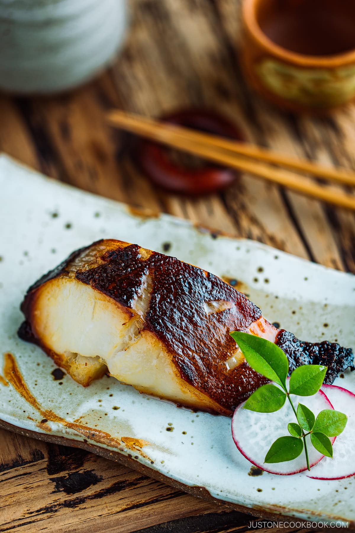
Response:
[[[323,365],[303,365],[293,370],[290,376],[290,394],[312,396],[323,384],[327,367]]]

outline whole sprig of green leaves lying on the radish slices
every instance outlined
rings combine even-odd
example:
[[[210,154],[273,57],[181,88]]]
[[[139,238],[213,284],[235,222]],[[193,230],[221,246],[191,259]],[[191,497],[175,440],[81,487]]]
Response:
[[[284,406],[287,398],[297,420],[297,423],[290,422],[288,424],[289,435],[280,437],[271,445],[266,454],[265,463],[292,461],[304,449],[307,468],[310,470],[307,435],[310,435],[312,446],[319,453],[333,457],[333,446],[329,437],[336,437],[342,433],[348,417],[344,413],[332,409],[324,409],[316,417],[303,403],[299,403],[295,409],[290,396],[290,394],[298,396],[316,394],[323,384],[327,367],[303,365],[296,368],[290,376],[287,390],[288,359],[283,350],[273,342],[249,333],[231,332],[230,335],[255,372],[276,383],[276,385],[267,383],[259,387],[246,400],[244,409],[258,413],[274,413]]]

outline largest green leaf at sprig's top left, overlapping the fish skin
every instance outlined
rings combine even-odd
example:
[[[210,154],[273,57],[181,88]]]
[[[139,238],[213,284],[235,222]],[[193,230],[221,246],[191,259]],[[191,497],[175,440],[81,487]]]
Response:
[[[230,332],[249,365],[286,390],[288,359],[273,342],[249,333]]]

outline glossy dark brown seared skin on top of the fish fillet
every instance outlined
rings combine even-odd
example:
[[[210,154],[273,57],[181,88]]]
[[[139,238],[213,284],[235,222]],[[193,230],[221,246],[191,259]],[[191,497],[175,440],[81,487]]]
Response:
[[[261,318],[261,311],[217,276],[175,257],[120,241],[98,241],[83,248],[30,288],[21,306],[27,326],[19,334],[24,340],[36,339],[35,328],[29,327],[34,322],[35,295],[55,278],[75,278],[133,316],[134,302],[147,276],[152,281],[142,330],[164,345],[185,383],[221,406],[223,414],[231,414],[266,379],[245,362],[228,372],[225,361],[237,351],[229,331],[247,330]],[[39,344],[48,353],[43,342]]]

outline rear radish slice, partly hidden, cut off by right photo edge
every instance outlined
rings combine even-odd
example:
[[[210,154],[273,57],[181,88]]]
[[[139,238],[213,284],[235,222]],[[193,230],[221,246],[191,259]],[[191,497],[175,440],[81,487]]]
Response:
[[[348,423],[336,438],[333,459],[325,457],[308,477],[325,480],[350,478],[355,475],[355,394],[336,385],[323,385],[322,390],[334,408],[348,416]]]

